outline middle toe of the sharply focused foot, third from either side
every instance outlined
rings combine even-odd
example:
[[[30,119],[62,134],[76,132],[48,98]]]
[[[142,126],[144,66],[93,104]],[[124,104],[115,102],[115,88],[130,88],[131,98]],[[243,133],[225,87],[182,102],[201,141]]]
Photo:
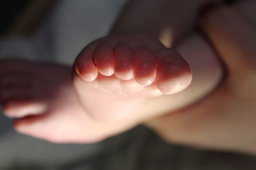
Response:
[[[121,80],[133,78],[133,53],[125,43],[115,47],[115,75]]]

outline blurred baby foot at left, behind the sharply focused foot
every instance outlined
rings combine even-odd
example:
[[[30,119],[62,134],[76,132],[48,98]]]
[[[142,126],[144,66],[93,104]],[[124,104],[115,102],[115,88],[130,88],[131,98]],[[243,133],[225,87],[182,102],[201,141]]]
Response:
[[[54,143],[92,143],[129,126],[90,118],[79,104],[70,73],[70,67],[57,64],[0,61],[0,100],[4,115],[17,118],[17,131]]]

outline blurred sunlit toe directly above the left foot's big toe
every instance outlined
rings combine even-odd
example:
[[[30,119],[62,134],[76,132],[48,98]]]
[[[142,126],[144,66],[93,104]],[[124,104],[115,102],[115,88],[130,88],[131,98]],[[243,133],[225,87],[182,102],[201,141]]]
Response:
[[[21,118],[28,115],[38,115],[47,110],[47,104],[36,101],[10,101],[3,104],[6,117]]]

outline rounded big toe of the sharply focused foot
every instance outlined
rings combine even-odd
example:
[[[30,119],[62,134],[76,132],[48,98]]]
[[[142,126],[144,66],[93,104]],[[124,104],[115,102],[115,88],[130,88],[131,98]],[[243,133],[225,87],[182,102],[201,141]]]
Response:
[[[175,94],[191,83],[188,63],[174,50],[166,49],[158,53],[156,69],[156,84],[163,94]]]

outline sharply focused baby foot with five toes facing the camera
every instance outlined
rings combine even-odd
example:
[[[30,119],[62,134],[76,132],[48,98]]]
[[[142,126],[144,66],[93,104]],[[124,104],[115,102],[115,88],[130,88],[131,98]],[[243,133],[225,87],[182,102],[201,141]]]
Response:
[[[141,34],[93,41],[74,64],[74,85],[84,110],[103,121],[131,113],[147,97],[180,92],[191,78],[178,52]]]

